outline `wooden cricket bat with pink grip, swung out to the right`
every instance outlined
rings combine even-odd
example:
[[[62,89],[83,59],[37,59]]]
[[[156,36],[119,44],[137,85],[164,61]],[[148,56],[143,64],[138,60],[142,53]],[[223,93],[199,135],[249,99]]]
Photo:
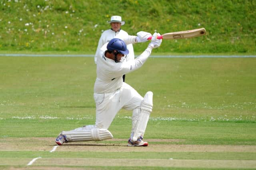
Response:
[[[198,28],[195,30],[186,30],[179,32],[168,32],[161,36],[157,36],[157,39],[180,39],[180,38],[194,38],[206,35],[206,30],[204,28]],[[151,40],[152,36],[148,38]]]

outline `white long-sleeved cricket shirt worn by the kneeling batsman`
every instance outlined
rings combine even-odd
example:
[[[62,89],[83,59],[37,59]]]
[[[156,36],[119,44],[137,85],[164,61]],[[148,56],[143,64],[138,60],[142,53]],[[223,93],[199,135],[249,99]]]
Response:
[[[136,36],[124,38],[126,44],[135,43]],[[130,73],[140,68],[151,54],[152,48],[147,47],[145,51],[136,59],[116,63],[113,59],[105,57],[107,50],[105,43],[100,49],[101,55],[97,57],[97,78],[94,83],[95,93],[111,93],[122,86],[124,74]]]

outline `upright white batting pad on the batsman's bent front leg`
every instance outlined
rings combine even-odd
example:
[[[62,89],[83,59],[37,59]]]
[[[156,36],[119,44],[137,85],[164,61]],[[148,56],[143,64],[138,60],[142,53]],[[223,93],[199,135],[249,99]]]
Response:
[[[153,108],[153,93],[151,91],[148,91],[144,96],[144,99],[140,105],[140,115],[138,117],[138,121],[134,129],[132,142],[137,141],[138,138],[140,137],[143,138],[144,132],[148,124],[149,115],[152,112],[152,108]]]

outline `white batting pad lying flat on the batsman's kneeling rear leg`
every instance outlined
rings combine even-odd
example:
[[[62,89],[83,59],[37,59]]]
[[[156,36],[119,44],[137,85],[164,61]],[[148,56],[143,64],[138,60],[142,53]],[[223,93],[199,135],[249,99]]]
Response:
[[[62,131],[63,135],[66,135],[68,142],[73,141],[100,141],[106,139],[112,139],[113,135],[104,128],[92,128],[91,130],[71,130]]]

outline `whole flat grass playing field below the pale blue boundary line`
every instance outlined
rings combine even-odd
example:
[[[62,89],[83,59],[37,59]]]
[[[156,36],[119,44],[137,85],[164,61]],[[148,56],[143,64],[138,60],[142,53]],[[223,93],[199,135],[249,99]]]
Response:
[[[93,58],[0,57],[0,169],[256,169],[255,66],[150,58],[126,75],[141,95],[154,93],[148,147],[126,147],[124,110],[109,128],[114,139],[56,146],[60,131],[95,121]]]

